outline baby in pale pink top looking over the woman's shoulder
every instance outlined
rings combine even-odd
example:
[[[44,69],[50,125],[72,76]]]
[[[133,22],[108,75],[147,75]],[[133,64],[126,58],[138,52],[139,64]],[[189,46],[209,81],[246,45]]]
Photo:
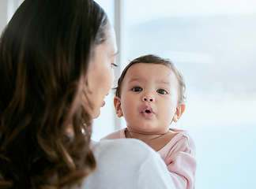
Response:
[[[193,188],[194,141],[186,131],[169,128],[185,110],[182,74],[168,59],[149,54],[126,66],[115,90],[115,112],[127,127],[104,139],[140,139],[160,154],[175,188]]]

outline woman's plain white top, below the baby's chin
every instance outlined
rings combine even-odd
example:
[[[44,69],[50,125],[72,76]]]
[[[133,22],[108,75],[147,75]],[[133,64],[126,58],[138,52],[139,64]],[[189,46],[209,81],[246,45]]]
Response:
[[[82,189],[175,188],[160,155],[140,140],[94,142],[92,151],[96,170],[85,178]]]

